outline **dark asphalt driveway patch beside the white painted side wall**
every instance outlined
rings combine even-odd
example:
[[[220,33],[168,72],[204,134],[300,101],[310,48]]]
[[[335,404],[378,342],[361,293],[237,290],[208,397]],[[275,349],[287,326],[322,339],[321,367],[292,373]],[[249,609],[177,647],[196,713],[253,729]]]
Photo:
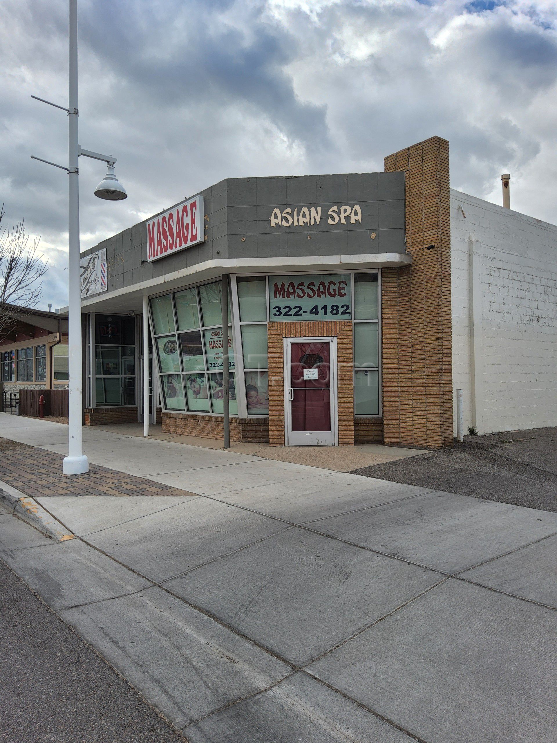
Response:
[[[557,511],[557,428],[466,436],[452,449],[353,474]]]

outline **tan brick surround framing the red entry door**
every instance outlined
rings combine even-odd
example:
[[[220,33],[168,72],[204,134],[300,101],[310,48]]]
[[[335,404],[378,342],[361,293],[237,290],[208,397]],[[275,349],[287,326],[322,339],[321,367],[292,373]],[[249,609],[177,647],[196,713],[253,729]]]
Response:
[[[339,446],[354,446],[352,322],[269,322],[269,443],[284,447],[284,338],[336,337]]]

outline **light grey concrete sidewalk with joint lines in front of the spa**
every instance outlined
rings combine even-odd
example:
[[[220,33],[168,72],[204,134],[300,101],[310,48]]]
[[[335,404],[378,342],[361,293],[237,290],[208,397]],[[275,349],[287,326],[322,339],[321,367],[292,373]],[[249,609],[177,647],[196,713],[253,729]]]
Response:
[[[0,435],[62,454],[33,424]],[[0,557],[192,743],[557,741],[556,513],[98,429],[86,450],[198,497],[38,497],[76,539],[6,513]]]

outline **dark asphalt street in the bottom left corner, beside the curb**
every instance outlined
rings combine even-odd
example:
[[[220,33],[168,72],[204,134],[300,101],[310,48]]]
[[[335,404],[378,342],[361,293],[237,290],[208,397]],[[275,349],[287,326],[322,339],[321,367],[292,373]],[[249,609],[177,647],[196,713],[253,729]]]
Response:
[[[0,560],[0,741],[185,739]]]

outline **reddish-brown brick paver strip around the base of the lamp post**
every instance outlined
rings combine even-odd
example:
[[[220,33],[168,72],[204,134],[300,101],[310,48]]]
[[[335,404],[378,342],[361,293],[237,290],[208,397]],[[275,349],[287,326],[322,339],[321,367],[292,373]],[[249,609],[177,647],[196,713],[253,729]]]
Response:
[[[89,465],[86,475],[62,474],[62,454],[0,438],[0,480],[26,496],[193,496],[143,477]]]

